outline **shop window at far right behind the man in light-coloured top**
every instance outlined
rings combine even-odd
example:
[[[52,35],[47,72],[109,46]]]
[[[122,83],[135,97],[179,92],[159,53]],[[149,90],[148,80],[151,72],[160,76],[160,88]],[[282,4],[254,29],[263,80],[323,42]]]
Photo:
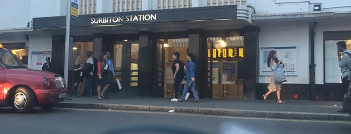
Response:
[[[325,83],[341,83],[341,70],[338,64],[337,45],[340,40],[324,40]],[[351,49],[351,39],[344,39],[346,48]]]

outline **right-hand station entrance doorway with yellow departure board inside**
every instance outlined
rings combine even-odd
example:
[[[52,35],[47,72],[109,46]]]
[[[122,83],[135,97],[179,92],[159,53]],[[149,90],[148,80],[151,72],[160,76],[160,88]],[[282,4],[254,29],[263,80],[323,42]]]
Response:
[[[209,37],[207,52],[206,84],[212,97],[243,99],[244,37]]]

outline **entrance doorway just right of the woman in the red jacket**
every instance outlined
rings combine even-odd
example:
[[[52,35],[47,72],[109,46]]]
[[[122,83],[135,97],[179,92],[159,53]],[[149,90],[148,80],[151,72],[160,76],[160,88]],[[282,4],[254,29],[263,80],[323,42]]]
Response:
[[[121,93],[125,96],[138,95],[138,41],[115,41],[113,45],[113,67],[115,79],[122,85]]]

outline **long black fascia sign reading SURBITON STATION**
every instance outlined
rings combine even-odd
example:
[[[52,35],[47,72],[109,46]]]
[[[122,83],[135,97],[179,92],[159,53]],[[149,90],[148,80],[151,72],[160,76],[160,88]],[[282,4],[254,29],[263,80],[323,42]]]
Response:
[[[74,2],[77,1],[77,2]],[[79,0],[72,0],[73,7],[79,6]],[[78,8],[75,13],[78,14]],[[232,12],[232,13],[219,13]],[[184,22],[193,20],[235,19],[237,5],[176,8],[162,10],[123,11],[97,14],[81,14],[79,20],[72,21],[71,27],[118,25],[136,23]],[[33,28],[56,28],[65,26],[65,16],[35,17]]]

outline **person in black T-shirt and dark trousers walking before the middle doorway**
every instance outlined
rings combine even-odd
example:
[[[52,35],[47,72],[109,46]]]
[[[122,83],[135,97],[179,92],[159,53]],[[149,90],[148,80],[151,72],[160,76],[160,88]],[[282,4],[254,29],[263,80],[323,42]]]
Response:
[[[171,99],[171,101],[178,101],[178,96],[179,92],[182,94],[183,89],[179,88],[180,82],[184,79],[185,75],[185,69],[182,61],[179,59],[180,53],[178,51],[173,52],[172,58],[173,58],[173,65],[172,65],[172,72],[173,72],[173,78],[174,78],[174,83],[173,83],[173,90],[174,90],[174,97]],[[186,93],[186,96],[189,97],[190,93]],[[185,100],[188,98],[185,97]]]

